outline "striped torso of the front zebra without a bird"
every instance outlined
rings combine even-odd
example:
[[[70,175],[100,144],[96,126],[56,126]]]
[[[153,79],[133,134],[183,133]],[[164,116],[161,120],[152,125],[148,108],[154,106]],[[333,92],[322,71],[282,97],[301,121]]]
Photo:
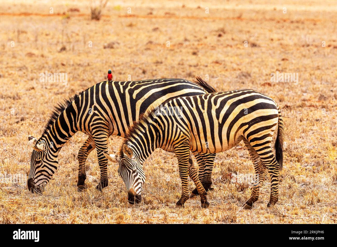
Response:
[[[192,152],[218,153],[274,131],[278,106],[250,89],[177,97],[165,104],[176,109],[177,128],[190,139]]]

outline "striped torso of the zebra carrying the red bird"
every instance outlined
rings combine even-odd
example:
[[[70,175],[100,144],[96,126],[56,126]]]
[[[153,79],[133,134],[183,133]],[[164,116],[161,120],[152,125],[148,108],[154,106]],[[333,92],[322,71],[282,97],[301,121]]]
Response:
[[[95,126],[107,124],[111,135],[124,136],[148,109],[169,98],[204,93],[203,87],[184,79],[103,81],[88,88],[75,102],[80,112],[78,127],[90,133]]]

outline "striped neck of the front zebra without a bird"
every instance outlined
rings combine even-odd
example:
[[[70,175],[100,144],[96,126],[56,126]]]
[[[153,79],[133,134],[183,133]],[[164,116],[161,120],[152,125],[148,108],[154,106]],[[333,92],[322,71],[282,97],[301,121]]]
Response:
[[[130,132],[125,144],[129,145],[143,163],[160,147],[160,127],[156,119],[149,119]]]

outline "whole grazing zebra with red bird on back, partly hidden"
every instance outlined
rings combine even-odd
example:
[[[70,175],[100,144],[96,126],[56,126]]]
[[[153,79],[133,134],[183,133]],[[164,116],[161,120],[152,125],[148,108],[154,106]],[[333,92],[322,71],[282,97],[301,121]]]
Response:
[[[194,83],[183,79],[153,79],[103,81],[71,97],[55,108],[39,139],[29,136],[34,148],[27,181],[29,191],[42,191],[41,186],[48,183],[57,169],[60,149],[78,131],[89,136],[78,153],[78,189],[86,188],[85,161],[97,148],[100,181],[96,189],[102,190],[108,186],[108,159],[102,153],[107,151],[110,135],[124,137],[128,126],[140,113],[168,98],[207,92],[216,90],[201,78]],[[210,189],[209,170],[212,170],[215,155],[197,155],[196,158],[200,160],[205,188]]]

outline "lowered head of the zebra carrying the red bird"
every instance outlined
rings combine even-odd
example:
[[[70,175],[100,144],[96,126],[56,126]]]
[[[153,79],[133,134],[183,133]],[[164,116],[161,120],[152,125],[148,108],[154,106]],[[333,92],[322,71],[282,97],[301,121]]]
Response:
[[[29,136],[28,140],[33,144],[34,150],[30,157],[27,186],[30,192],[41,193],[57,169],[58,159],[51,152],[46,140],[37,140],[33,136]]]

